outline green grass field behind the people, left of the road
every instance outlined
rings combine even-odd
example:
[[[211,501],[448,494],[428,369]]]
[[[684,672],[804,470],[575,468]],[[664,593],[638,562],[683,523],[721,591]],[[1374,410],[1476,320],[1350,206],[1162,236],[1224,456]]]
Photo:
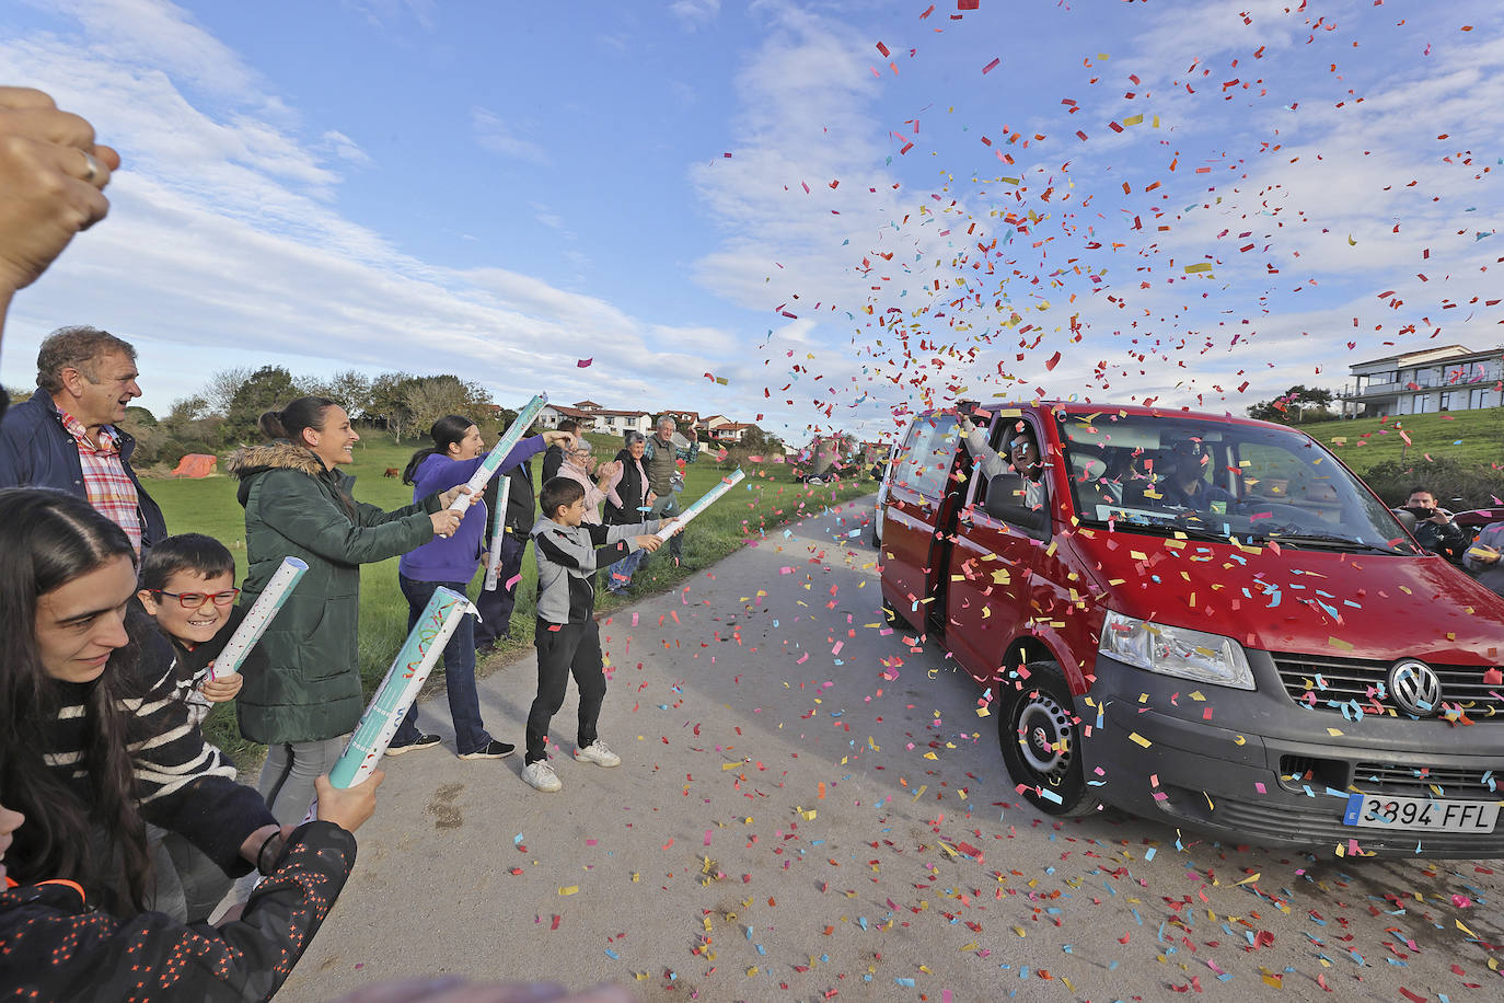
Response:
[[[361,442],[355,447],[355,463],[346,468],[358,478],[355,496],[382,508],[399,508],[411,502],[412,489],[399,478],[387,478],[382,474],[390,468],[399,471],[405,468],[421,442],[409,439],[397,445],[385,433],[362,432],[361,435]],[[596,444],[597,456],[605,459],[615,456],[620,439],[614,436],[590,438]],[[684,532],[683,565],[675,568],[666,558],[648,558],[633,576],[632,595],[672,588],[770,526],[802,519],[806,514],[821,511],[826,505],[877,489],[875,481],[865,478],[841,486],[811,487],[799,484],[793,480],[785,463],[754,465],[743,469],[746,469],[747,478]],[[692,463],[686,472],[683,504],[687,505],[704,495],[726,474],[729,471],[716,468],[714,457],[701,453],[698,462]],[[537,477],[538,465],[534,462],[534,478]],[[238,480],[224,475],[203,480],[153,478],[146,484],[152,498],[162,507],[167,528],[171,532],[205,532],[230,547],[238,567],[236,580],[245,573],[245,520],[235,498],[238,486]],[[480,574],[471,586],[471,595],[478,588]],[[504,665],[519,651],[532,645],[535,600],[537,565],[532,559],[532,547],[528,547],[522,564],[522,582],[517,585],[517,608],[511,620],[513,638],[490,659],[492,665]],[[623,600],[614,595],[600,595],[597,611],[609,612],[621,603]],[[385,675],[406,635],[408,603],[397,591],[397,559],[364,565],[361,568],[359,659],[367,693]],[[478,666],[477,671],[484,675],[484,666]],[[442,680],[442,672],[435,675]],[[429,686],[430,690],[426,693],[438,689],[436,683]],[[250,768],[262,755],[260,746],[241,737],[235,725],[232,704],[215,707],[205,722],[205,732],[211,741],[235,756],[242,768]]]

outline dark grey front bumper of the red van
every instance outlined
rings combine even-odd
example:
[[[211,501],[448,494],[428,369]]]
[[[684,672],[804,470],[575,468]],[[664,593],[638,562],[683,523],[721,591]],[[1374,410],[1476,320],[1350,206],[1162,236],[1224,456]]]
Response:
[[[1354,791],[1433,798],[1442,808],[1504,801],[1504,722],[1352,720],[1296,704],[1268,653],[1247,656],[1257,684],[1251,692],[1098,656],[1086,695],[1092,704],[1075,698],[1090,791],[1137,815],[1233,842],[1504,857],[1504,812],[1492,832],[1343,824]]]

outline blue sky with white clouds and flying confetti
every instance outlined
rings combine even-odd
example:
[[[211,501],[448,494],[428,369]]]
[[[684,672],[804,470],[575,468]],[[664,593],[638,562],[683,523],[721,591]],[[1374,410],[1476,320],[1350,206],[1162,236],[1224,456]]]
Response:
[[[224,367],[880,438],[957,398],[1241,414],[1504,341],[1504,8],[11,0],[125,164],[12,307]],[[1492,269],[1492,271],[1490,271]]]

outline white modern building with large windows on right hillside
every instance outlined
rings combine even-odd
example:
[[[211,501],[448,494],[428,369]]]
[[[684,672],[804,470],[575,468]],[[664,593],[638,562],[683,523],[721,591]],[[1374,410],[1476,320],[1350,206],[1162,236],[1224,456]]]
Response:
[[[1477,411],[1504,403],[1504,349],[1469,352],[1448,344],[1348,368],[1354,382],[1337,395],[1345,418]]]

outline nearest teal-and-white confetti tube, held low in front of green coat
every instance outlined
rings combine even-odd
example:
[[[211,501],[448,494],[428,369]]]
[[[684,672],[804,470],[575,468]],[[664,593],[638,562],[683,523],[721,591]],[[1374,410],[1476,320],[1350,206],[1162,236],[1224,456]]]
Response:
[[[460,592],[439,586],[433,589],[433,598],[424,608],[418,623],[412,627],[402,650],[387,669],[387,678],[376,689],[376,696],[361,714],[361,722],[355,725],[355,734],[344,746],[344,752],[329,770],[329,783],[338,788],[355,786],[371,774],[381,758],[387,755],[397,726],[408,716],[408,708],[418,698],[429,672],[444,656],[444,645],[460,624],[460,617],[474,614],[475,608]],[[308,806],[308,817],[314,818],[317,800]]]

